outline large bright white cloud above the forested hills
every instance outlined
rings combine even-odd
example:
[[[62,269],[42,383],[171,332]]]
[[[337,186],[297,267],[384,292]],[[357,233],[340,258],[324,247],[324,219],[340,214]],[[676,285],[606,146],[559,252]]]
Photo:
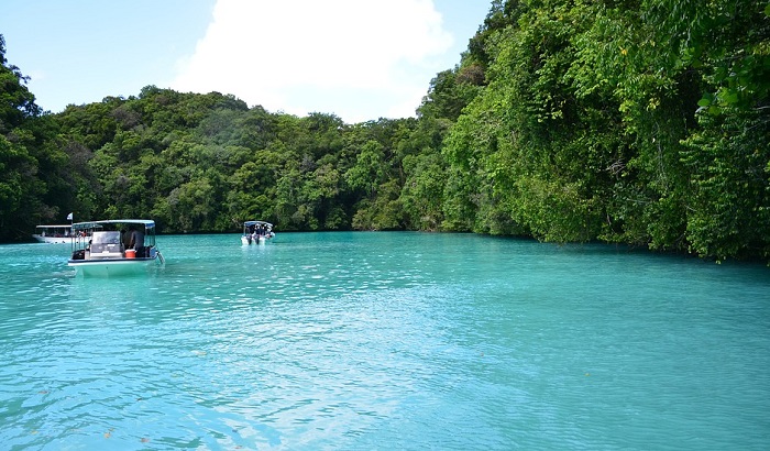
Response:
[[[451,45],[432,0],[219,0],[172,87],[346,122],[407,117]]]

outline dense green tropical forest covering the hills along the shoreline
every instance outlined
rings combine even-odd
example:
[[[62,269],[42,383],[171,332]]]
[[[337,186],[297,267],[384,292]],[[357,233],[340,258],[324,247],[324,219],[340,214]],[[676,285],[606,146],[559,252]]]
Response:
[[[348,124],[147,86],[42,111],[0,35],[0,241],[422,230],[770,261],[770,3],[499,0],[416,118]]]

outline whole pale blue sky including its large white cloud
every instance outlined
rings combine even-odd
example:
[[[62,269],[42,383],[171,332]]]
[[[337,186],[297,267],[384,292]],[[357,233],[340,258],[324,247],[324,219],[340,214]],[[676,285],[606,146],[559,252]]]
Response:
[[[6,57],[43,109],[147,85],[345,122],[415,114],[491,0],[3,0]]]

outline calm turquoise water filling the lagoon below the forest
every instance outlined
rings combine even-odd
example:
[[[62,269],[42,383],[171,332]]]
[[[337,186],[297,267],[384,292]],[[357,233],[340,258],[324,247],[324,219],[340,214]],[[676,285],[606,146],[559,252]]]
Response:
[[[0,246],[0,448],[770,448],[770,270],[464,234]]]

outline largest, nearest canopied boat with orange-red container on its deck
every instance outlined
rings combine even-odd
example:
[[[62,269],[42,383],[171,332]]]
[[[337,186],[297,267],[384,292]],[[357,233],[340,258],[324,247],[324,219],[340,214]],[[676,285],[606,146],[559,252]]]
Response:
[[[138,233],[132,238],[134,231]],[[73,255],[67,262],[77,274],[117,276],[138,274],[165,263],[155,245],[155,221],[111,219],[73,224]]]

